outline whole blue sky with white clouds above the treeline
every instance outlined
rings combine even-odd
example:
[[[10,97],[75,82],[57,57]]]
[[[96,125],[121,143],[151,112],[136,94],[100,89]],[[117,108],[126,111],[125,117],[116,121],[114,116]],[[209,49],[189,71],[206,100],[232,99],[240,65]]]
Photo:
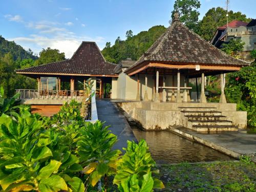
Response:
[[[201,0],[200,18],[226,0]],[[3,3],[4,2],[4,3]],[[0,35],[26,50],[56,48],[72,56],[82,40],[103,49],[125,32],[134,34],[155,25],[167,27],[174,0],[8,0],[0,7]],[[231,0],[229,7],[256,18],[255,0]]]

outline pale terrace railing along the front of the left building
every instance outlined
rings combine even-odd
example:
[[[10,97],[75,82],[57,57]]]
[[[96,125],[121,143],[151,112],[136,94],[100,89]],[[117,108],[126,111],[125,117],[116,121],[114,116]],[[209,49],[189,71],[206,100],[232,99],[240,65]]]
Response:
[[[16,89],[20,93],[19,99],[80,99],[83,90],[26,90]]]

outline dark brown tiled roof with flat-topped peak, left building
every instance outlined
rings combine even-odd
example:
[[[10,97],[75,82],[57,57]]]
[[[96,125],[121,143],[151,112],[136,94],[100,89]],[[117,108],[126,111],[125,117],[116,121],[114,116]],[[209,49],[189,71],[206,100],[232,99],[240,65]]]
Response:
[[[16,70],[20,74],[116,76],[116,65],[105,61],[95,42],[82,41],[71,59]]]

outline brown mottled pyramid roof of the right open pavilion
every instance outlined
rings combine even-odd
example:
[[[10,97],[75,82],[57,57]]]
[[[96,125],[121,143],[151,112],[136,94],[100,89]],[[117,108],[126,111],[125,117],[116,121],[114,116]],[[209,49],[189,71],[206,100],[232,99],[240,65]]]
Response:
[[[249,62],[233,58],[212,46],[177,20],[125,72],[128,73],[143,62],[239,67],[249,65]]]

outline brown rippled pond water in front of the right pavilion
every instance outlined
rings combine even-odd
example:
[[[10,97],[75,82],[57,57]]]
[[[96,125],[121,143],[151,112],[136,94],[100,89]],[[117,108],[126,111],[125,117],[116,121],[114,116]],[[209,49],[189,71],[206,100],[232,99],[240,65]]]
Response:
[[[190,141],[169,131],[145,132],[131,125],[136,139],[146,140],[157,163],[207,162],[234,160],[221,152]]]

